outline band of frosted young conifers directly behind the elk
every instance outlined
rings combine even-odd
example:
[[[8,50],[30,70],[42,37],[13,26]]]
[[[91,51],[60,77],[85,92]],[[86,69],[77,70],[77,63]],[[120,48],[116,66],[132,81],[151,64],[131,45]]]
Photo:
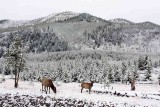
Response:
[[[68,51],[30,54],[26,69],[21,72],[22,80],[37,81],[47,76],[54,81],[99,83],[122,82],[131,79],[151,81],[153,68],[160,66],[160,59],[148,55],[98,52]],[[36,57],[37,56],[37,57]],[[5,70],[5,74],[9,70]],[[143,74],[143,78],[140,75]]]

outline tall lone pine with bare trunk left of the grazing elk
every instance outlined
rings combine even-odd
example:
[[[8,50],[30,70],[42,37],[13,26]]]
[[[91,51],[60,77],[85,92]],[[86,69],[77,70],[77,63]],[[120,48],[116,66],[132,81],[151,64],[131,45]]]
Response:
[[[13,70],[13,74],[15,75],[15,85],[14,87],[18,87],[19,74],[25,68],[26,60],[24,57],[24,48],[22,44],[22,40],[19,36],[14,38],[13,43],[11,43],[10,47],[5,52],[5,63],[6,66]]]

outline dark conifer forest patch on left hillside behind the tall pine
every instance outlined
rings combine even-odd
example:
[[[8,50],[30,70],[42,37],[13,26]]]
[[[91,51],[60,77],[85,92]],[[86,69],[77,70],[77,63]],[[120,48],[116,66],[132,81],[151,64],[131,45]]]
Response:
[[[21,37],[24,47],[26,48],[28,53],[40,53],[43,51],[66,51],[68,49],[68,43],[64,40],[60,40],[54,32],[38,28],[29,28],[25,30],[1,34],[1,36],[5,36],[5,38],[1,40],[0,46],[9,48],[9,46],[13,42],[13,38],[17,35]],[[1,56],[3,52],[4,48],[1,48]]]

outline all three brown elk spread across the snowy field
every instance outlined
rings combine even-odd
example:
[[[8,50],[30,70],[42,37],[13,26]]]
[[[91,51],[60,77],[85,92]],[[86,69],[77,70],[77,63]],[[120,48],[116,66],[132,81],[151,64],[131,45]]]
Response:
[[[42,90],[41,90],[42,92],[45,91],[46,94],[47,94],[47,92],[49,91],[49,93],[50,93],[50,88],[52,89],[52,91],[54,93],[57,92],[57,89],[54,86],[54,84],[53,84],[51,79],[48,79],[46,77],[43,77],[43,78],[39,77],[38,81],[40,81],[41,84],[42,84]],[[93,83],[94,83],[94,81],[91,81],[91,83],[87,83],[87,82],[81,83],[81,93],[82,93],[83,89],[88,89],[89,90],[89,94],[90,94],[91,88],[93,87]],[[135,81],[132,80],[131,81],[131,91],[134,91],[134,90],[135,90]]]

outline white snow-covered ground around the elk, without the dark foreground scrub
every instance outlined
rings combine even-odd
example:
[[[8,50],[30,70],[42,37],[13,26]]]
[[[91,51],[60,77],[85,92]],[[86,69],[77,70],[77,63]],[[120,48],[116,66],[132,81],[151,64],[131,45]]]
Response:
[[[104,89],[103,84],[94,83],[92,92],[89,94],[85,89],[80,92],[80,83],[54,82],[57,93],[45,94],[40,91],[40,82],[19,81],[19,87],[14,88],[14,80],[7,78],[0,83],[0,96],[11,94],[11,96],[31,97],[43,96],[54,99],[76,99],[84,102],[93,102],[95,107],[107,103],[116,107],[159,107],[160,106],[160,86],[158,84],[136,84],[136,91],[130,91],[130,85],[111,84]],[[0,102],[2,98],[0,98]],[[12,99],[14,100],[14,99]],[[51,101],[50,101],[51,103]],[[54,103],[52,101],[52,103]],[[51,106],[51,105],[50,105]]]

